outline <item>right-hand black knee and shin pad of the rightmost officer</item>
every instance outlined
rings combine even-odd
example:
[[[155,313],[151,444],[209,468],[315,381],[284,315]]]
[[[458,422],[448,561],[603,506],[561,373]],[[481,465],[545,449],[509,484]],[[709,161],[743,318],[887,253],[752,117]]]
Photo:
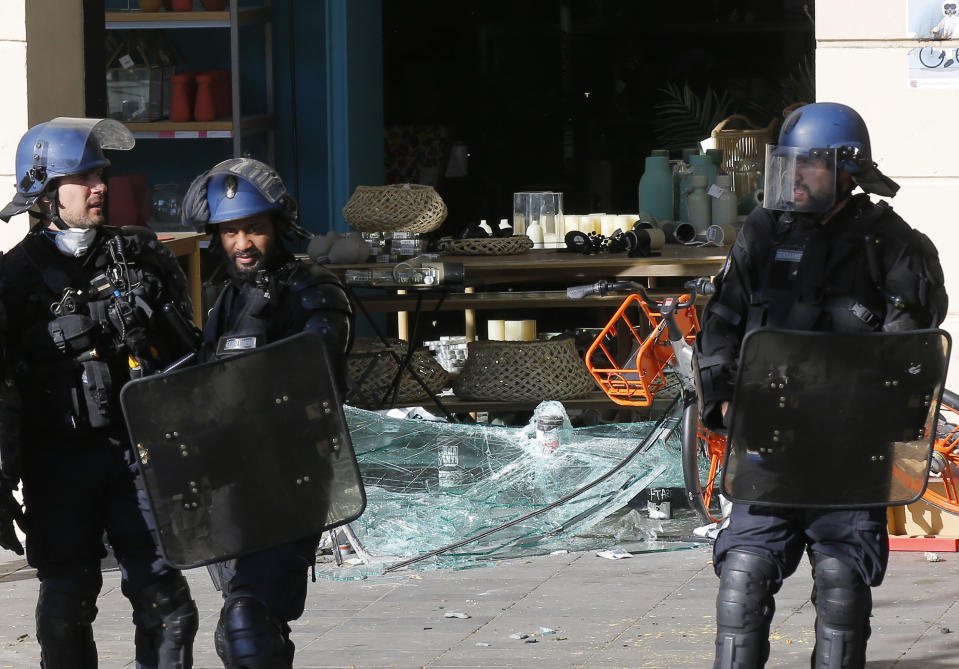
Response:
[[[854,568],[813,555],[816,647],[813,669],[856,669],[866,664],[872,592]]]

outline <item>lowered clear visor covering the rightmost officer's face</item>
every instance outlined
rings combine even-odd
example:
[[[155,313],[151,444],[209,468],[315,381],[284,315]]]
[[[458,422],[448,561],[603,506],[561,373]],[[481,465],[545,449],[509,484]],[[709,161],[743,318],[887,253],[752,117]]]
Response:
[[[766,145],[763,207],[827,211],[836,202],[836,150]]]

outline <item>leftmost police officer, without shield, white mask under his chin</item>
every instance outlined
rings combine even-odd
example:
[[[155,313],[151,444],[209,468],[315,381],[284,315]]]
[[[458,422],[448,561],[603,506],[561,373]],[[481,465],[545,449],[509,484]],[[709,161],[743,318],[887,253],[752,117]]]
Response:
[[[173,255],[149,230],[105,224],[103,150],[132,147],[117,121],[34,126],[17,147],[16,195],[0,212],[5,221],[24,211],[36,219],[0,271],[0,409],[22,401],[22,420],[0,410],[0,461],[6,491],[23,483],[45,669],[97,666],[92,623],[104,531],[133,604],[136,666],[192,666],[196,605],[154,543],[119,407],[126,381],[197,344]],[[0,533],[4,547],[22,553],[8,534]]]

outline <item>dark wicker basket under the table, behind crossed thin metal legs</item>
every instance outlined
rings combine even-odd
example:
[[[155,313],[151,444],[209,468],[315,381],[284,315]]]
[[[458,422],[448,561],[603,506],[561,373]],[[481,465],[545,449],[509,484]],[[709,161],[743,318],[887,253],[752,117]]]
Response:
[[[400,358],[406,355],[405,341],[391,339],[390,344]],[[410,370],[404,368],[400,376],[399,391],[396,394],[398,403],[428,400],[430,394],[440,393],[449,385],[449,373],[424,349],[413,352],[410,366],[426,384],[429,393],[417,383],[410,374]],[[365,408],[380,408],[384,395],[387,395],[393,387],[398,371],[399,363],[379,339],[356,340],[346,358],[346,373],[350,386],[347,403]],[[392,392],[390,392],[386,397],[387,404],[392,398]]]

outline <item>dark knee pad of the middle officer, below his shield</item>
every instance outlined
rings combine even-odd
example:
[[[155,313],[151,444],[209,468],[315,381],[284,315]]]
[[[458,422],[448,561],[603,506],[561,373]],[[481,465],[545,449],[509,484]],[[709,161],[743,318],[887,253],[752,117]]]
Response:
[[[290,669],[290,628],[266,604],[250,596],[231,596],[220,611],[214,635],[217,654],[227,669]]]

